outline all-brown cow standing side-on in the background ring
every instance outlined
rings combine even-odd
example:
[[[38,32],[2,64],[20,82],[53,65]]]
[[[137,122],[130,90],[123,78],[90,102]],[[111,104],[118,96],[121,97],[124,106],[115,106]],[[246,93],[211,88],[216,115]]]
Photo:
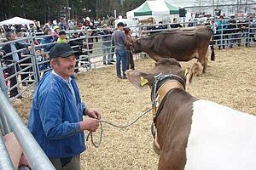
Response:
[[[203,72],[206,72],[207,56],[211,51],[209,47],[211,37],[212,30],[206,26],[181,28],[135,39],[133,48],[134,53],[143,51],[155,61],[162,58],[189,61],[195,58],[203,66]],[[211,59],[215,59],[213,48]]]

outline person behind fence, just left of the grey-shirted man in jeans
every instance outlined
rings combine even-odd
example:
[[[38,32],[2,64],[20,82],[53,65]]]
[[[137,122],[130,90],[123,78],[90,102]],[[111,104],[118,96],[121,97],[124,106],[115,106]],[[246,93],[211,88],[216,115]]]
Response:
[[[103,24],[103,30],[99,32],[102,36],[102,53],[103,53],[103,65],[113,65],[111,62],[112,54],[111,53],[111,34],[112,31],[109,30],[107,24]],[[108,55],[108,60],[107,60]]]

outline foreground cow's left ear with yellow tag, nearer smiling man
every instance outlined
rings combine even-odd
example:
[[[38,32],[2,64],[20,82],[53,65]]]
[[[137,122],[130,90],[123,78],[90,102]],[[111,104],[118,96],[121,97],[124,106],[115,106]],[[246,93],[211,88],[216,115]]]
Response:
[[[136,87],[136,88],[143,88],[148,85],[147,74],[139,71],[126,71],[127,77],[129,81]]]

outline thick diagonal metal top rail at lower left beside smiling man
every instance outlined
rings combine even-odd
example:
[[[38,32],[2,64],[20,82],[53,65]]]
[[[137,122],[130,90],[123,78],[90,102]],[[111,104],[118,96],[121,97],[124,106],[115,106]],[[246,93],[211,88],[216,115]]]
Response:
[[[32,169],[55,169],[37,141],[26,128],[25,124],[21,121],[18,113],[12,105],[9,104],[9,100],[6,99],[2,91],[0,91],[0,101],[0,108],[3,110],[4,115],[7,117],[11,127],[13,128],[15,137],[24,151]]]

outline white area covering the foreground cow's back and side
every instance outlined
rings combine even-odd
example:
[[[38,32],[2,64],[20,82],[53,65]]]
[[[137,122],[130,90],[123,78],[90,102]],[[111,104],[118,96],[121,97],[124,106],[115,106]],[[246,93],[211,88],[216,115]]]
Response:
[[[186,170],[255,170],[256,116],[195,101],[186,156]]]

